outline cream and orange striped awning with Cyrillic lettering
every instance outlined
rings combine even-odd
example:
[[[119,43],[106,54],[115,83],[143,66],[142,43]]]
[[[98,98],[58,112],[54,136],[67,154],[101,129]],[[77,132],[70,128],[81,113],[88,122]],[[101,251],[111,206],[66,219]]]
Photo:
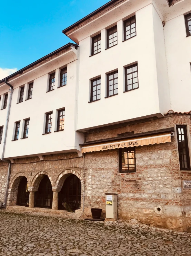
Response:
[[[139,147],[144,145],[153,145],[171,142],[171,132],[159,133],[154,135],[149,135],[147,137],[137,137],[132,139],[116,140],[112,142],[103,143],[92,143],[89,145],[82,145],[82,153],[93,152],[93,151],[103,151],[110,149],[128,148],[128,147]]]

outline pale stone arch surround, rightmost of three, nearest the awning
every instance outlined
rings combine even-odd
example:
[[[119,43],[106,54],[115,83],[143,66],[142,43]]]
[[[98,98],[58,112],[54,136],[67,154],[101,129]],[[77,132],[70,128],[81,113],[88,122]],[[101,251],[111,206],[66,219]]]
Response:
[[[75,171],[75,170],[65,170],[65,171],[63,171],[57,177],[55,186],[52,187],[52,190],[54,192],[60,192],[61,189],[62,189],[62,186],[64,184],[64,181],[66,180],[66,178],[68,178],[72,174],[76,175],[80,179],[80,182],[81,182],[81,207],[80,207],[80,209],[82,210],[83,209],[84,180],[83,180],[82,176],[78,173],[78,171]]]

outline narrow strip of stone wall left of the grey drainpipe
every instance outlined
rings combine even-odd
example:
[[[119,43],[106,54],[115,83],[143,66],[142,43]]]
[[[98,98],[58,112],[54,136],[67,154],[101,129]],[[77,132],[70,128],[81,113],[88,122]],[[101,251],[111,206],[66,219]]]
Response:
[[[0,202],[4,202],[7,185],[8,164],[0,161]]]

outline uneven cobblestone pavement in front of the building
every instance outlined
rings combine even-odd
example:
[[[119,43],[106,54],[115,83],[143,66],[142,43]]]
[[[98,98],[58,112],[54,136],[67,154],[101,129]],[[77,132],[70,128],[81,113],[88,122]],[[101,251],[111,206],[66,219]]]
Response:
[[[191,256],[191,234],[0,210],[0,255]]]

